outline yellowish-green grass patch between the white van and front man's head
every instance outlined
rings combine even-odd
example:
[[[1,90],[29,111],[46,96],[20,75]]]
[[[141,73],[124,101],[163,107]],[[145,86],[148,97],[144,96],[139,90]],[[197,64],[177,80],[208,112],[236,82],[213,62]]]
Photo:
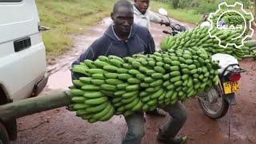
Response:
[[[110,16],[117,0],[37,0],[46,58],[50,60],[69,50],[74,42],[71,34],[82,34],[86,28]]]

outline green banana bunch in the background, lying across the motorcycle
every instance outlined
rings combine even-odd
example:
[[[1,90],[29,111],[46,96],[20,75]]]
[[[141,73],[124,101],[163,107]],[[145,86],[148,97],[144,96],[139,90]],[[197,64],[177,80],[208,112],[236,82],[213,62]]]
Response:
[[[179,50],[186,49],[190,47],[201,47],[206,50],[208,54],[230,54],[233,55],[238,60],[242,60],[244,56],[250,54],[249,46],[242,46],[241,48],[235,48],[234,46],[227,46],[227,48],[223,48],[219,46],[219,42],[217,38],[210,38],[210,34],[208,33],[209,28],[207,26],[197,27],[194,30],[186,31],[184,33],[170,36],[165,38],[161,43],[161,49],[163,51],[166,50]],[[226,46],[226,43],[236,43],[240,45],[241,39],[232,39],[238,36],[237,32],[223,32],[222,30],[218,30],[214,28],[210,31],[210,33],[218,38],[222,39],[222,45]]]

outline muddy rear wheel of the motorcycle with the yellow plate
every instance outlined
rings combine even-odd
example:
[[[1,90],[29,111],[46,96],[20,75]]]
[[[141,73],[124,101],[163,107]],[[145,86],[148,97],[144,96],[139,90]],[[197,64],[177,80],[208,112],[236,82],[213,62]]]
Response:
[[[220,102],[219,109],[213,110],[211,106],[211,105],[217,105],[217,102],[214,104],[211,104],[210,102],[208,102],[206,99],[203,99],[202,97],[198,97],[199,106],[201,107],[202,112],[206,114],[207,117],[211,119],[222,118],[224,115],[226,115],[227,111],[229,110],[230,103],[225,98],[223,98],[223,95],[220,92],[220,89],[218,87],[214,87],[212,90],[215,90],[216,94],[218,94],[218,101]]]

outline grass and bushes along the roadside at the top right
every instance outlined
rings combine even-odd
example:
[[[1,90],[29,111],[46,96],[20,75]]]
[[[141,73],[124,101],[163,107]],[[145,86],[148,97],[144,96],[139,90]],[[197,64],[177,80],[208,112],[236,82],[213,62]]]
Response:
[[[152,0],[150,7],[152,10],[165,8],[170,17],[181,22],[196,24],[200,21],[202,14],[211,13],[218,9],[220,2],[234,4],[242,2],[246,11],[253,11],[254,2],[250,0]]]

